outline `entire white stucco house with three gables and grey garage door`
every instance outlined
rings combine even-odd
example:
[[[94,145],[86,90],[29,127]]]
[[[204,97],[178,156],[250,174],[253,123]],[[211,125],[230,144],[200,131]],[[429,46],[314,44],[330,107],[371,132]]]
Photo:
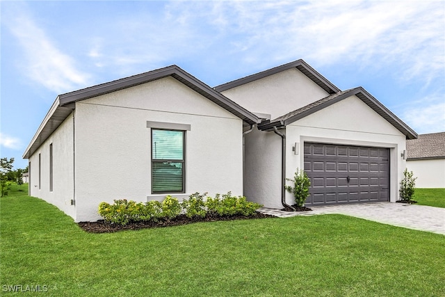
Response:
[[[79,222],[102,201],[197,191],[282,208],[297,168],[308,205],[395,202],[415,138],[366,90],[302,60],[215,88],[173,65],[59,95],[24,158],[30,195]]]

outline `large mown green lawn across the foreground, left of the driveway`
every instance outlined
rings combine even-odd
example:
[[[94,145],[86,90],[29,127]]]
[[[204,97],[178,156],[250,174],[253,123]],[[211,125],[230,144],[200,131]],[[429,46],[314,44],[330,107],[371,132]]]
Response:
[[[42,296],[445,296],[445,236],[359,218],[88,234],[26,195],[1,198],[0,211],[2,291],[40,284],[48,286]]]

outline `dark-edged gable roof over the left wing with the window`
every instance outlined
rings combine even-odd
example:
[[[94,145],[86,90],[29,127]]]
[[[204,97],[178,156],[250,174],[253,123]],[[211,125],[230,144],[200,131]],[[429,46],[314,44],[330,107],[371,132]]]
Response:
[[[137,86],[156,79],[162,79],[164,77],[173,77],[174,79],[177,79],[177,81],[184,83],[184,85],[223,107],[223,109],[226,109],[230,113],[238,116],[238,118],[241,118],[250,125],[254,125],[259,122],[257,116],[250,113],[250,111],[239,106],[229,98],[218,93],[216,90],[213,90],[213,88],[207,86],[207,84],[203,83],[199,79],[196,79],[191,74],[188,74],[188,72],[182,70],[177,65],[172,65],[158,70],[137,74],[132,77],[126,77],[124,79],[118,79],[116,81],[110,81],[108,83],[92,86],[90,88],[84,88],[71,93],[58,95],[56,101],[45,116],[42,124],[40,124],[40,127],[31,140],[31,143],[29,143],[28,147],[26,147],[23,158],[29,159],[29,156],[31,156],[31,154],[33,154],[33,152],[35,152],[35,150],[37,150],[38,147],[40,147],[40,145],[47,140],[47,138],[57,129],[57,127],[68,117],[68,115],[72,113],[72,110],[75,109],[75,102],[112,93],[124,88],[130,88],[132,86]]]

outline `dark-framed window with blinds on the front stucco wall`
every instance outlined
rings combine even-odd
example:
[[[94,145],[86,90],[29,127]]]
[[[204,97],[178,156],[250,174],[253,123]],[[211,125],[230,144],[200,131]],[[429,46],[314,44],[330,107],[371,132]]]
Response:
[[[152,193],[184,193],[185,131],[152,129]]]

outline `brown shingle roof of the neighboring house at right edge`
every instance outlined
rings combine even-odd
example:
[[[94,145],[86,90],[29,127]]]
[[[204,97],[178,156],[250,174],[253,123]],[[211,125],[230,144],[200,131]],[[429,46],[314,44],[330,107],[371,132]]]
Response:
[[[445,132],[420,134],[406,142],[407,160],[445,159]]]

